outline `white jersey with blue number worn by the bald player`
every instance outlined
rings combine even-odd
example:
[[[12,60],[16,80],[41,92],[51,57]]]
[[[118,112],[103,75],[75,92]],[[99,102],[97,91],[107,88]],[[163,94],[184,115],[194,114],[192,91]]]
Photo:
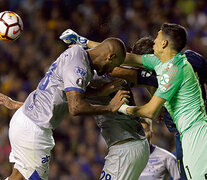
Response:
[[[91,64],[87,51],[81,46],[65,50],[27,97],[24,114],[40,127],[55,128],[67,113],[65,92],[85,91],[93,77]]]

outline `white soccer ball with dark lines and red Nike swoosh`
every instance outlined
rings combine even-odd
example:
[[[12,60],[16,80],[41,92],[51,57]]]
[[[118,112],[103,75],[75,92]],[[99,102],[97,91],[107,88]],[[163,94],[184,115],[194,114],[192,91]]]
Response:
[[[19,38],[23,30],[22,19],[12,11],[0,13],[0,39],[13,41]]]

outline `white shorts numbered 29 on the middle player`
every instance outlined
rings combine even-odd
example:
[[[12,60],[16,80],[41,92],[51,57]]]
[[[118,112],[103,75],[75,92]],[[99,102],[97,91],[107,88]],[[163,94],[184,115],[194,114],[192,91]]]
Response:
[[[138,180],[149,159],[149,143],[133,140],[109,148],[100,180]]]

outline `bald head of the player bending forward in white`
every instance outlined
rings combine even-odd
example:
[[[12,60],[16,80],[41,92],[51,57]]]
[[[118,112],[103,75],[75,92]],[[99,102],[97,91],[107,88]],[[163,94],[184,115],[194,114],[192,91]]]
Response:
[[[125,45],[117,38],[107,38],[88,52],[98,75],[112,72],[126,57]]]

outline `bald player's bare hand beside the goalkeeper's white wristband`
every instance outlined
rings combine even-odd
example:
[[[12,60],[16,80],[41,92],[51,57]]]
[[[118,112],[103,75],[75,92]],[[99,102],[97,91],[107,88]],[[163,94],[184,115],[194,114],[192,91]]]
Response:
[[[129,101],[127,100],[127,98],[130,98],[130,96],[128,95],[129,93],[129,91],[119,90],[108,105],[110,111],[116,112],[123,103],[128,103]]]

